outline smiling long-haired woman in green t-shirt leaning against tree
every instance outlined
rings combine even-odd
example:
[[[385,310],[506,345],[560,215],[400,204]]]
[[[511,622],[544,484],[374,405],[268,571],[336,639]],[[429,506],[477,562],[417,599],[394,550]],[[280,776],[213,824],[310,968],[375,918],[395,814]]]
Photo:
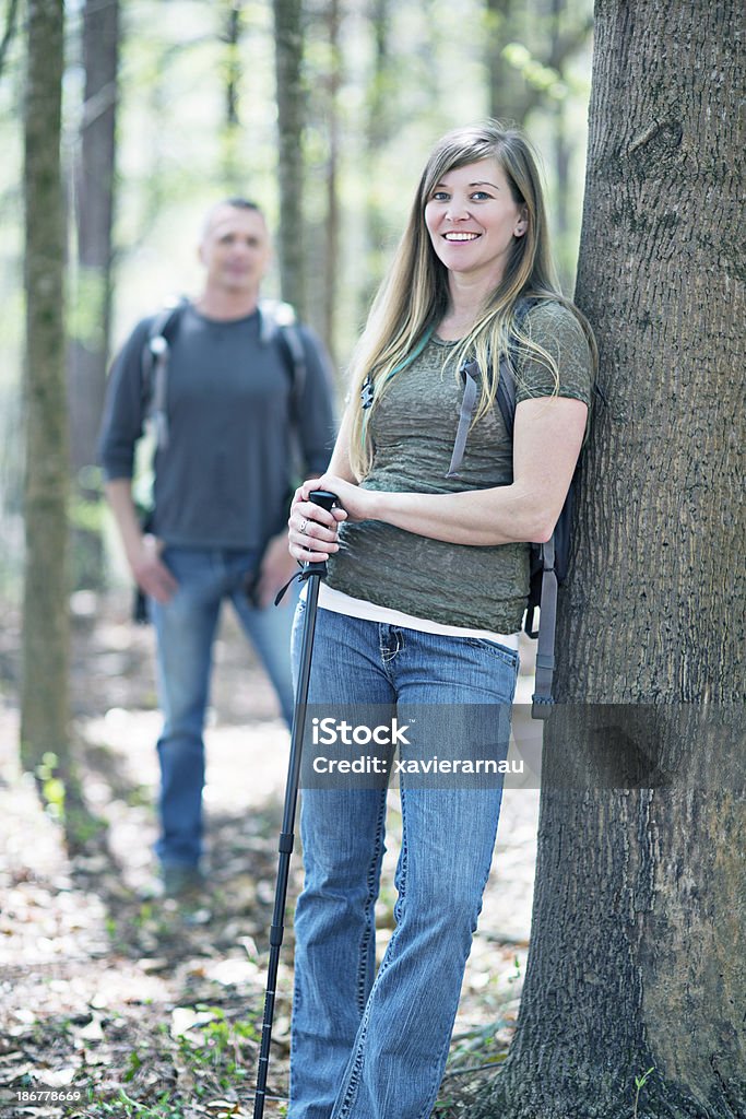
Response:
[[[494,406],[510,346],[512,443]],[[450,756],[479,737],[476,713],[509,706],[527,542],[548,539],[563,506],[586,431],[594,352],[554,278],[522,134],[491,121],[446,135],[353,359],[329,471],[298,490],[291,510],[295,558],[330,561],[312,704],[446,712]],[[479,396],[464,421],[462,370],[474,358]],[[337,493],[339,508],[311,504],[313,489]],[[503,720],[499,756],[507,735]],[[377,974],[386,790],[330,782],[304,791],[290,1119],[429,1116],[501,789],[425,784],[400,779],[397,923]]]

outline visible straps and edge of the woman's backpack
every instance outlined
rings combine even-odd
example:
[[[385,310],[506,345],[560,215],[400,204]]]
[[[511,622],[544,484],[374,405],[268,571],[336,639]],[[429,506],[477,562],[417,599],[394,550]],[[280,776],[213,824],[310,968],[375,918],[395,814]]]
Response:
[[[518,301],[513,312],[513,323],[520,327],[538,299],[523,298]],[[518,365],[517,339],[511,340],[508,350],[500,357],[500,379],[498,382],[497,404],[508,434],[512,439],[516,421],[516,367]],[[474,414],[479,389],[480,369],[476,361],[468,363],[462,369],[464,376],[464,395],[459,417],[459,430],[451,458],[448,476],[455,474],[466,444],[469,427]],[[603,399],[603,394],[594,386],[594,394]],[[579,460],[578,460],[579,466]],[[570,552],[570,525],[573,519],[573,491],[576,486],[578,466],[565,498],[555,530],[546,544],[531,544],[530,548],[530,584],[523,630],[530,638],[538,638],[536,652],[536,690],[531,697],[531,717],[546,720],[551,714],[554,698],[551,685],[555,674],[555,630],[557,627],[557,587],[567,579]],[[539,623],[536,623],[536,610],[539,609]]]

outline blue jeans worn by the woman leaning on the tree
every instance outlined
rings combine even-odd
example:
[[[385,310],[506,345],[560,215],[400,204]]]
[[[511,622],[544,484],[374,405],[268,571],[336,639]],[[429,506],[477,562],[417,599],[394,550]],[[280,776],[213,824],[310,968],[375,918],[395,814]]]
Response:
[[[303,611],[301,603],[294,661]],[[455,725],[475,704],[472,712],[493,712],[493,732],[499,704],[506,717],[493,749],[504,759],[517,670],[518,655],[489,641],[320,610],[309,702],[312,712],[327,703],[332,712],[337,704],[380,705],[402,722],[407,711],[433,705],[451,709]],[[459,753],[459,742],[448,746],[451,756]],[[377,972],[386,789],[303,790],[289,1119],[426,1119],[437,1096],[502,786],[427,787],[408,775],[399,783],[396,929]]]

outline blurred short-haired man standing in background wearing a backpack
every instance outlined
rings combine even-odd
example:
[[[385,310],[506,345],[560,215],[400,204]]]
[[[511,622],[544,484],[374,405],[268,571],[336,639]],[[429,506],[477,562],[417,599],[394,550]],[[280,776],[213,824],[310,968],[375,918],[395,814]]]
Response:
[[[162,327],[168,345],[153,345],[157,318],[145,319],[116,358],[100,442],[106,497],[155,626],[163,712],[155,849],[170,895],[200,881],[202,727],[224,599],[292,718],[292,609],[275,608],[273,598],[296,570],[285,529],[293,468],[323,472],[333,439],[319,344],[292,328],[299,365],[290,328],[259,304],[271,257],[259,209],[242,198],[215,206],[199,256],[202,293]],[[143,533],[132,498],[134,449],[155,408],[154,508]],[[293,462],[298,448],[302,463]]]

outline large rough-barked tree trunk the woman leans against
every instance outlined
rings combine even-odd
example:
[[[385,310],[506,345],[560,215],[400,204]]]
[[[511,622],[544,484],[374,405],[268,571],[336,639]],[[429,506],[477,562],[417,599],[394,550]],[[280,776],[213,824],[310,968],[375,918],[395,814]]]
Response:
[[[739,25],[737,0],[596,6],[577,301],[608,405],[518,1031],[474,1119],[746,1116]]]

